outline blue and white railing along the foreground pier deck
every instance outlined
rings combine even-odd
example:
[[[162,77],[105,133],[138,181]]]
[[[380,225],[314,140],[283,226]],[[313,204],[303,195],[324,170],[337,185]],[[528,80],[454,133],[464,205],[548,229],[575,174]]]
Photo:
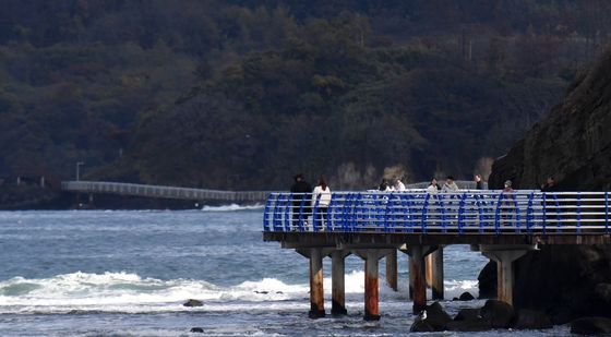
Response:
[[[271,193],[264,231],[609,233],[609,192]]]

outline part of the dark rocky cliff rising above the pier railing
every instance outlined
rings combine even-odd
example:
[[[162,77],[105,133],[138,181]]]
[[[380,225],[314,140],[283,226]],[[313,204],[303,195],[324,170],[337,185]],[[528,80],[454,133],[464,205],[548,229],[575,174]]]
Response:
[[[611,188],[611,50],[568,88],[562,104],[496,159],[491,188],[511,179],[519,189],[552,176],[562,190]]]

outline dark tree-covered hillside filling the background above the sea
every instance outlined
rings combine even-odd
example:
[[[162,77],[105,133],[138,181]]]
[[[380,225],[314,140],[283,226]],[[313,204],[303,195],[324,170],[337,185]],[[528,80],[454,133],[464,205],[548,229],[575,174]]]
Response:
[[[486,169],[607,44],[606,1],[7,0],[0,173],[332,186]],[[478,167],[481,166],[481,167]]]

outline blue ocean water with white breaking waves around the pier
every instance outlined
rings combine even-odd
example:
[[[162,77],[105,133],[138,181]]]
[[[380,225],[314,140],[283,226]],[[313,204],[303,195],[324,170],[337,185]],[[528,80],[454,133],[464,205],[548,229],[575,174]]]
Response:
[[[0,336],[400,336],[415,316],[407,256],[399,290],[381,266],[379,322],[364,322],[363,262],[346,260],[349,314],[308,318],[308,261],[262,240],[261,207],[201,210],[0,212]],[[470,291],[487,260],[445,249],[446,298]],[[331,309],[331,261],[324,260]],[[185,308],[189,299],[203,301]],[[453,314],[482,301],[444,301]],[[428,336],[561,336],[495,330]]]

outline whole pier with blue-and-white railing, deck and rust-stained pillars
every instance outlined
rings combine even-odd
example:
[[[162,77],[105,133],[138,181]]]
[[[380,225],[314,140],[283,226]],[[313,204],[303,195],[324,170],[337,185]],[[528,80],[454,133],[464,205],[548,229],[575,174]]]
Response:
[[[512,304],[513,262],[539,244],[610,244],[609,193],[480,191],[427,193],[337,192],[321,207],[309,193],[271,193],[263,240],[293,249],[310,263],[310,317],[326,314],[323,264],[332,258],[332,313],[344,314],[344,260],[364,262],[364,320],[379,320],[379,264],[396,290],[397,261],[408,255],[409,292],[416,314],[443,299],[443,248],[469,244],[496,262],[498,299]],[[324,209],[326,208],[326,209]]]

